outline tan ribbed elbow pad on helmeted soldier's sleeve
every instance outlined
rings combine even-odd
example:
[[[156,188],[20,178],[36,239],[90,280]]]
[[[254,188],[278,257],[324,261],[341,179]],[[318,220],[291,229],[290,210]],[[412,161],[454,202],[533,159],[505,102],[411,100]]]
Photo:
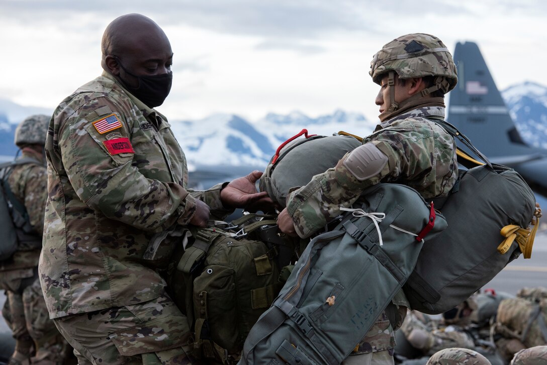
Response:
[[[378,175],[387,160],[387,156],[374,143],[365,143],[348,155],[344,167],[359,181],[364,181]]]

